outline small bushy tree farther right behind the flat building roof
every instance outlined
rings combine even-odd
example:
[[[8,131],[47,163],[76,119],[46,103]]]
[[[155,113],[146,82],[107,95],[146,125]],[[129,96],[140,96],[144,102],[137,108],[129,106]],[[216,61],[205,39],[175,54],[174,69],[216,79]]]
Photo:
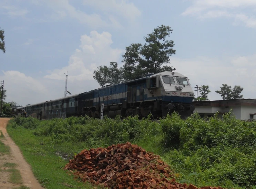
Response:
[[[215,92],[221,94],[223,100],[243,98],[243,95],[240,94],[244,90],[243,87],[235,86],[233,89],[231,89],[231,86],[222,84],[222,87],[219,88],[221,90],[216,90]]]

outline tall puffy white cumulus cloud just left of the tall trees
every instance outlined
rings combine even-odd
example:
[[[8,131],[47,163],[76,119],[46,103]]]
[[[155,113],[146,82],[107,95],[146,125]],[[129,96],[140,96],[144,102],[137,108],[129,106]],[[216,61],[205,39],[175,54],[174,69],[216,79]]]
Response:
[[[45,78],[65,80],[63,76],[68,71],[68,78],[71,82],[94,80],[93,71],[99,65],[117,62],[123,52],[121,49],[111,48],[113,41],[108,32],[100,34],[92,31],[90,36],[82,35],[80,41],[81,45],[75,49],[69,64],[61,69],[49,71],[50,74],[44,76]]]

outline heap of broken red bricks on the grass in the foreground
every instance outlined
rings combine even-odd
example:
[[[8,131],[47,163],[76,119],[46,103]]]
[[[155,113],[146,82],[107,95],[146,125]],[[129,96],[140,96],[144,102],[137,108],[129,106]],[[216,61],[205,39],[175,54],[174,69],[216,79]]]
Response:
[[[69,160],[66,169],[84,182],[115,189],[196,189],[193,185],[175,182],[170,167],[160,156],[129,142],[89,151],[84,149]]]

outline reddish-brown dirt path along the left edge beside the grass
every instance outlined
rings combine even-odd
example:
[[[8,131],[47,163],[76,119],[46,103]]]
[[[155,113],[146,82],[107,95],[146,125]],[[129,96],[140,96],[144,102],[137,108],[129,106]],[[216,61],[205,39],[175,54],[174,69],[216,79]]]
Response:
[[[22,184],[13,184],[9,182],[10,173],[7,171],[0,171],[0,188],[9,189],[9,188],[18,188],[21,185],[30,187],[31,189],[43,189],[39,184],[37,179],[34,177],[30,165],[23,158],[19,147],[12,141],[6,131],[6,125],[10,119],[9,118],[0,118],[0,130],[2,131],[4,137],[0,140],[6,146],[10,147],[10,154],[1,154],[0,152],[0,169],[7,170],[9,168],[4,167],[6,163],[17,164],[16,169],[20,171],[22,177]]]

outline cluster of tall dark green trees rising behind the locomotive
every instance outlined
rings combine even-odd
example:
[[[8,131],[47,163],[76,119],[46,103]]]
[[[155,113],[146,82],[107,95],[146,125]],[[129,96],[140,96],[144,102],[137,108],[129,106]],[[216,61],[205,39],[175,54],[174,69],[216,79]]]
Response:
[[[93,78],[103,87],[105,84],[116,84],[145,77],[148,74],[172,71],[172,67],[168,64],[170,64],[170,56],[176,51],[173,49],[174,42],[167,40],[172,31],[170,26],[156,27],[152,33],[144,37],[144,45],[132,43],[125,48],[121,68],[118,68],[116,62],[111,62],[110,67],[99,66],[94,71]]]

